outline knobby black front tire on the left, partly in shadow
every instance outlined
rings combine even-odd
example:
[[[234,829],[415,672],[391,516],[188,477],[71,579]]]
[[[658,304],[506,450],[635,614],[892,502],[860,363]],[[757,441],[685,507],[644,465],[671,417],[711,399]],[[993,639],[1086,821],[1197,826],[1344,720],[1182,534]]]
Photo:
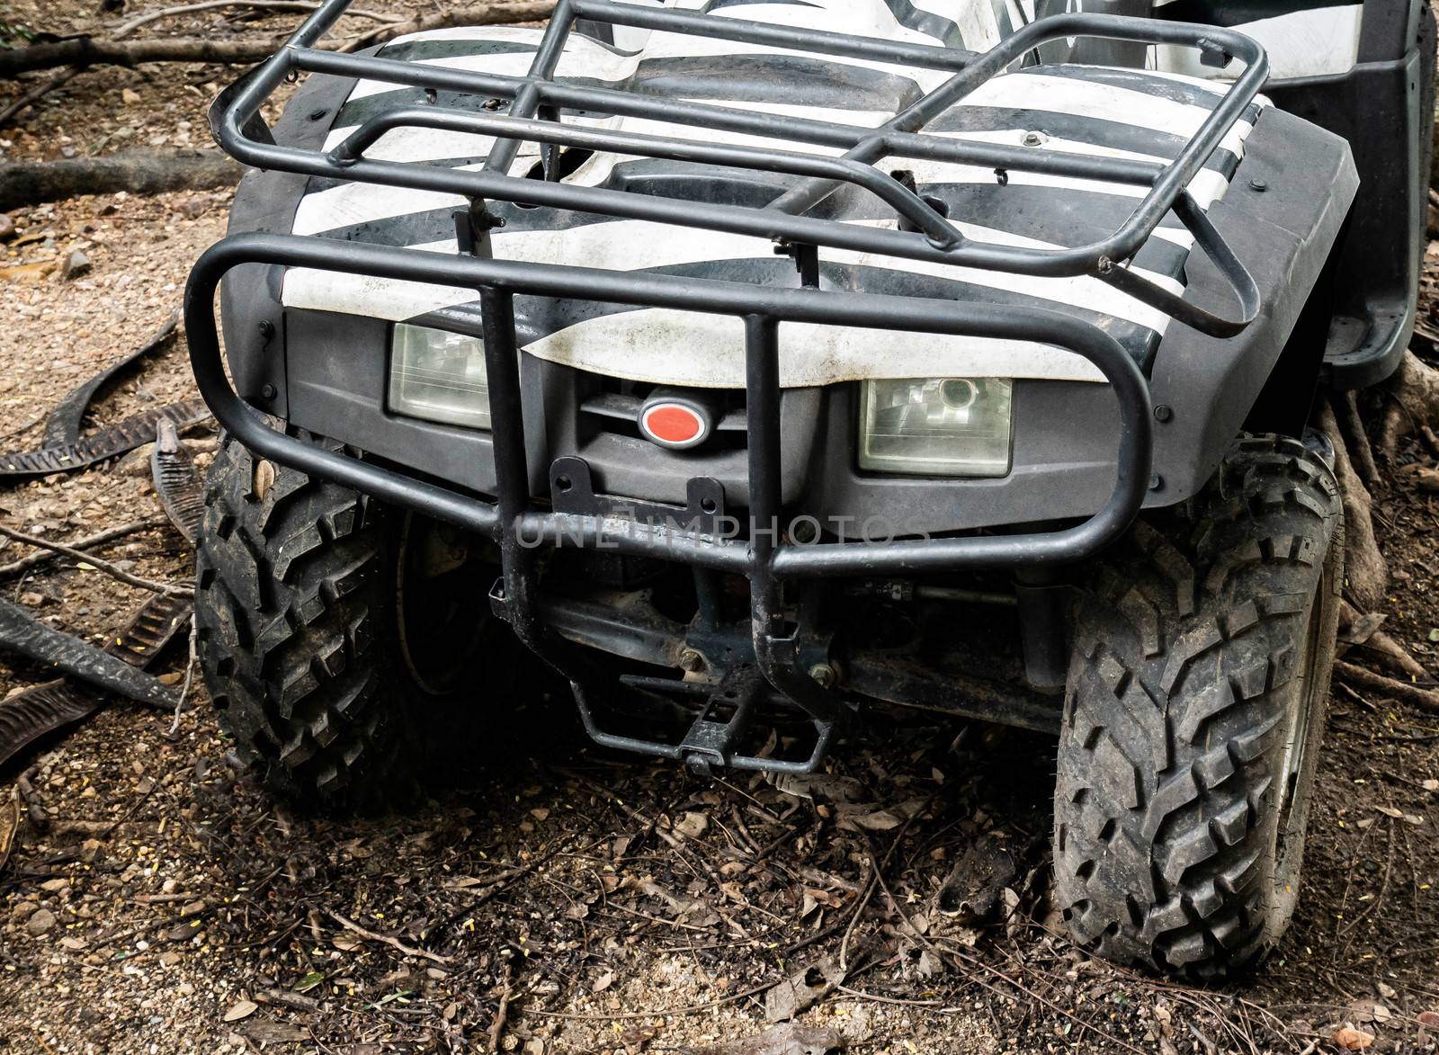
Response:
[[[442,769],[437,744],[476,746],[465,731],[504,688],[508,635],[463,607],[484,603],[492,571],[448,583],[448,596],[414,586],[417,561],[450,576],[472,566],[436,530],[220,445],[196,547],[200,665],[222,728],[286,797],[374,809]]]

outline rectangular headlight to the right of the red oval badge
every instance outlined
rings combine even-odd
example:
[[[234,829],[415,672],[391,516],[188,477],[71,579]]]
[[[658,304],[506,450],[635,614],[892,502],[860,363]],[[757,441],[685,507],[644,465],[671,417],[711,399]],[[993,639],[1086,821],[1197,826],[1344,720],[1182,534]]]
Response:
[[[930,476],[1004,476],[1007,377],[865,381],[859,468]]]

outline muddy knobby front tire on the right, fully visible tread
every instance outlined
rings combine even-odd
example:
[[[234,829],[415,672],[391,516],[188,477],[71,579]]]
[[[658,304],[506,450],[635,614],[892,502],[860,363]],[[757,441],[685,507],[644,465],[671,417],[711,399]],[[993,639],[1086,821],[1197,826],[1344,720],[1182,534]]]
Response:
[[[1331,471],[1243,439],[1076,609],[1055,889],[1105,959],[1232,976],[1294,913],[1343,583]]]

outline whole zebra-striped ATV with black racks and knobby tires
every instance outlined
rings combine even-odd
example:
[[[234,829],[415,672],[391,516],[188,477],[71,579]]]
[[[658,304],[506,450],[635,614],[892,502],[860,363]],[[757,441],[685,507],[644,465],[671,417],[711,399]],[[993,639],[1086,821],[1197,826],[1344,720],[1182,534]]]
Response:
[[[921,707],[1058,734],[1076,941],[1271,948],[1343,584],[1309,425],[1413,327],[1427,4],[560,0],[321,49],[347,6],[216,102],[255,171],[186,302],[200,656],[273,787],[401,793],[530,658],[701,776]]]

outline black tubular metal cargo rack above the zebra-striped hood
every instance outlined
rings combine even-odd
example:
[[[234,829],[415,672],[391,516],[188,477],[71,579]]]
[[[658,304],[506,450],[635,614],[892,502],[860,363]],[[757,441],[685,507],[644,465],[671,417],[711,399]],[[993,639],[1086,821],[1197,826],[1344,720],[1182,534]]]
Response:
[[[304,23],[289,43],[281,47],[250,81],[224,99],[224,105],[212,117],[212,124],[220,144],[229,153],[246,164],[262,168],[439,190],[471,199],[484,197],[553,206],[774,240],[882,253],[901,259],[1043,276],[1101,275],[1118,262],[1132,258],[1163,217],[1176,207],[1189,181],[1207,163],[1233,125],[1242,119],[1245,109],[1268,75],[1268,59],[1263,49],[1239,33],[1212,26],[1150,19],[1101,14],[1052,16],[1030,23],[996,49],[976,56],[970,52],[928,45],[895,43],[743,19],[708,19],[684,12],[642,9],[616,3],[616,0],[561,0],[541,39],[528,75],[502,76],[374,56],[335,55],[315,49],[314,45],[319,36],[340,17],[348,3],[350,0],[325,0],[325,4]],[[954,75],[879,128],[861,128],[773,114],[763,115],[725,107],[676,102],[635,92],[563,85],[553,81],[553,76],[563,55],[564,42],[577,17],[610,24],[640,26],[658,32],[691,33],[753,45],[790,47],[817,55],[902,62],[948,71]],[[1145,43],[1187,45],[1238,56],[1246,62],[1246,69],[1219,107],[1204,119],[1199,132],[1180,151],[1180,155],[1163,166],[1052,154],[1003,144],[973,144],[925,135],[918,131],[1023,55],[1046,40],[1063,36],[1102,36]],[[243,130],[249,127],[259,107],[292,72],[327,72],[436,91],[491,94],[495,98],[511,99],[511,112],[476,121],[478,115],[466,111],[440,107],[406,108],[401,115],[368,122],[361,130],[360,138],[334,155],[262,142],[248,137]],[[681,138],[613,134],[617,138],[603,140],[596,131],[577,128],[574,124],[534,121],[532,118],[545,107],[623,114],[678,125],[718,127],[781,141],[837,145],[846,150],[846,157],[826,158],[827,171],[819,171],[826,166],[819,166],[813,154],[803,151],[767,147],[728,148],[730,153],[725,153],[724,157],[737,167],[790,174],[813,173],[766,209],[676,202],[622,190],[578,187],[507,174],[518,144],[525,138],[571,147],[607,141],[616,145],[625,144],[630,153],[650,157],[675,157],[695,148],[695,144]],[[488,128],[498,137],[496,145],[486,158],[482,171],[459,171],[364,158],[363,148],[373,144],[377,135],[406,125],[401,118],[420,127]],[[720,148],[715,151],[712,157],[720,157]],[[918,232],[862,227],[802,214],[833,193],[842,183],[858,183],[866,190],[881,193],[879,183],[869,176],[862,176],[859,170],[872,168],[873,161],[886,155],[932,157],[1013,171],[1061,173],[1081,178],[1150,186],[1150,190],[1125,223],[1111,236],[1086,246],[1063,249],[1004,246],[976,239],[960,239],[953,223],[943,220],[943,217],[935,219],[937,214],[932,210],[921,212],[917,209],[915,203],[909,200],[908,191],[899,196],[884,191],[881,196],[885,202],[895,204],[914,226],[918,226]],[[884,176],[878,170],[873,171],[882,181]],[[1225,261],[1223,269],[1236,285],[1242,285],[1248,279],[1242,265],[1232,255]],[[1135,285],[1134,295],[1157,307],[1168,307],[1164,298],[1157,296],[1156,291],[1144,285]],[[1200,317],[1191,324],[1194,322],[1204,325],[1206,320]],[[1226,322],[1217,330],[1232,331],[1232,328],[1233,324]]]

